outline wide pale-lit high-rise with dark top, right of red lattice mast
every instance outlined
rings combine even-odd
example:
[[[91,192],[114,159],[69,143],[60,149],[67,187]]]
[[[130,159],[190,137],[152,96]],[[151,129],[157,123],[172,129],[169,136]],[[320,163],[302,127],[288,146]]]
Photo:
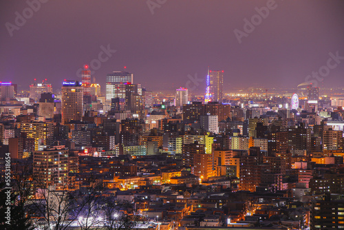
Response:
[[[133,74],[123,71],[114,71],[107,74],[106,100],[111,98],[125,98],[125,85],[133,83]]]

